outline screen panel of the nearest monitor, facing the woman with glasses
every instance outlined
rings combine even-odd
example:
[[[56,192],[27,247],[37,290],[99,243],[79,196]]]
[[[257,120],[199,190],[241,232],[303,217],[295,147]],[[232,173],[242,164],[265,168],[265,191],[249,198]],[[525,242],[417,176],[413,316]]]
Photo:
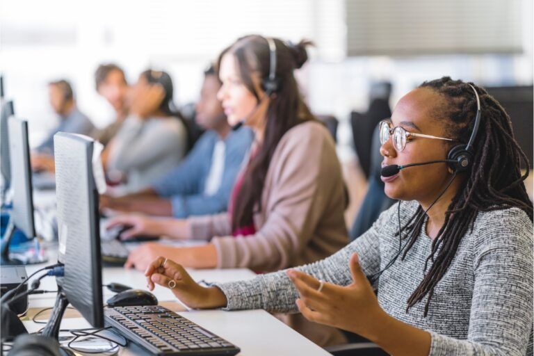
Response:
[[[98,192],[92,175],[93,140],[60,132],[54,135],[58,279],[67,299],[94,327],[104,326]]]

